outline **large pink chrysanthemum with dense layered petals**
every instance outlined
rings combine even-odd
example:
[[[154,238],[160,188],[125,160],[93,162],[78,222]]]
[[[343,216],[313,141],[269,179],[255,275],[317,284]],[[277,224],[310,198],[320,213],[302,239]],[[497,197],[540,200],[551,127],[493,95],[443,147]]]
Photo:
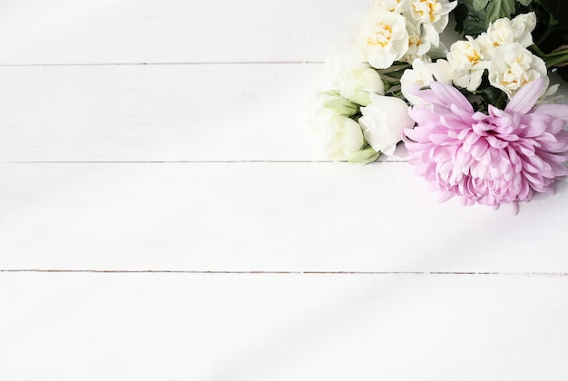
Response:
[[[424,103],[410,109],[417,124],[404,132],[417,174],[441,191],[441,201],[456,196],[495,209],[510,203],[515,213],[519,201],[553,192],[553,182],[568,174],[568,105],[534,106],[543,89],[542,79],[527,83],[488,115],[445,83],[417,90]]]

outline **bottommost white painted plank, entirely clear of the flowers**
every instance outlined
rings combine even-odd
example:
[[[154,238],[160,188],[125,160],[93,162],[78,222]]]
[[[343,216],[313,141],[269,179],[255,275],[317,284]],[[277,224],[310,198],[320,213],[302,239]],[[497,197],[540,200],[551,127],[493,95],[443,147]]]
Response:
[[[5,380],[563,381],[568,278],[0,273]]]

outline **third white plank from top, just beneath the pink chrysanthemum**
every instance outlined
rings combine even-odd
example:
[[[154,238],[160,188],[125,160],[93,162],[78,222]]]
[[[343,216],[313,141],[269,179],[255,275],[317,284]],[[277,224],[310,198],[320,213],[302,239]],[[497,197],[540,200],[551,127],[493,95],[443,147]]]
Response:
[[[0,269],[568,272],[566,181],[439,205],[405,162],[0,166]]]

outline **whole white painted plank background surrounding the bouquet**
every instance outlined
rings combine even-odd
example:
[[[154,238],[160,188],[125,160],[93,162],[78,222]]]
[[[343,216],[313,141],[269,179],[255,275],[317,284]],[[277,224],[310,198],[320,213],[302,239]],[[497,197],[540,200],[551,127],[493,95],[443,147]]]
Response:
[[[325,161],[367,0],[0,0],[1,380],[566,380],[568,186]]]

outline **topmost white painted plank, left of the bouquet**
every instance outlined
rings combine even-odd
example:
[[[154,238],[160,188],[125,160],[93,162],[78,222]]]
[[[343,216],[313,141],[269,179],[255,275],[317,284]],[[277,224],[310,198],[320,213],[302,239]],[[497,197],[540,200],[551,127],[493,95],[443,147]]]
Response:
[[[322,61],[367,0],[3,0],[0,64]]]

